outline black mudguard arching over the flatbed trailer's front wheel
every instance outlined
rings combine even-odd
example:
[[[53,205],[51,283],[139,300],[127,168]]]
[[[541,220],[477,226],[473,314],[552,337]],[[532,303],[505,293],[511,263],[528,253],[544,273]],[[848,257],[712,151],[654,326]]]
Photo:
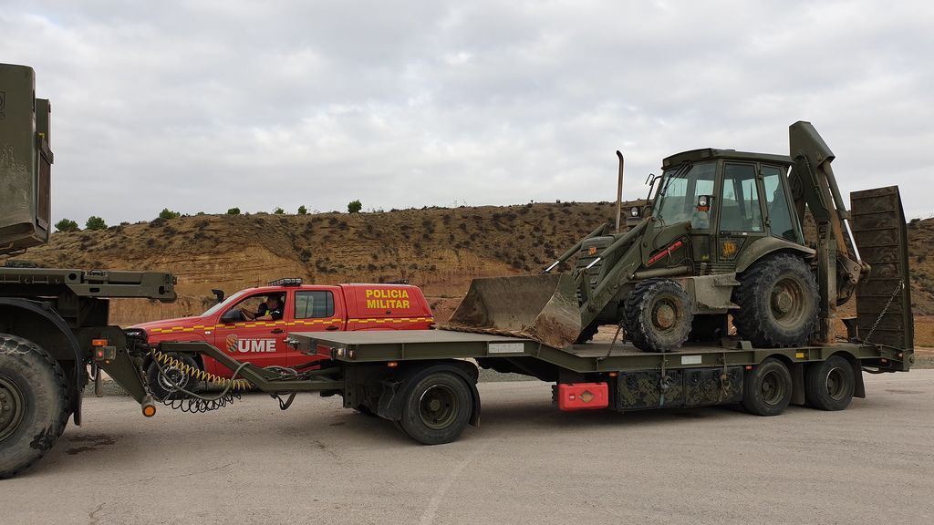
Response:
[[[479,371],[469,362],[443,361],[443,362],[411,362],[400,370],[395,376],[382,382],[383,393],[379,396],[379,405],[376,414],[380,418],[398,421],[403,417],[403,404],[409,389],[422,377],[435,372],[452,372],[460,376],[470,387],[474,398],[474,407],[471,412],[470,424],[474,427],[480,425],[480,392],[476,390],[476,381]]]

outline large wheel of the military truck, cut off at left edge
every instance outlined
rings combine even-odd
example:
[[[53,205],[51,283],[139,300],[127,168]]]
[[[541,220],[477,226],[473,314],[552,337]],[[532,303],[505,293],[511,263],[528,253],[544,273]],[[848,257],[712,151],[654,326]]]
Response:
[[[50,450],[64,432],[70,401],[64,370],[49,352],[0,333],[0,479]]]

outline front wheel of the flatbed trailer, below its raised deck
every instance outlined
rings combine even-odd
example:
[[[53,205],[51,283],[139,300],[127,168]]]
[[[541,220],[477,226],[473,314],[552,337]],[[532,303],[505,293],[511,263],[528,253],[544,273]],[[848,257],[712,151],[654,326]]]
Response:
[[[470,388],[460,376],[436,372],[408,391],[399,423],[419,443],[450,443],[464,432],[473,405]]]

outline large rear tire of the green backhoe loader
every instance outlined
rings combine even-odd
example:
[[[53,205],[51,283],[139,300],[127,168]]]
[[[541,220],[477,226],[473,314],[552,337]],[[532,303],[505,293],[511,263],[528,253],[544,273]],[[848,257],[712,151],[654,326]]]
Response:
[[[750,266],[733,290],[736,333],[757,348],[801,347],[817,323],[817,283],[800,257],[780,253]]]

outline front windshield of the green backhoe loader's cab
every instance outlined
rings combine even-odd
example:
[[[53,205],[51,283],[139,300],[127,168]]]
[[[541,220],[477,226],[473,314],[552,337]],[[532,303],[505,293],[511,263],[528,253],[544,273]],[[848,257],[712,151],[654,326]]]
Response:
[[[692,228],[709,228],[709,214],[699,212],[697,203],[699,195],[714,194],[715,175],[716,161],[681,165],[665,170],[662,173],[655,217],[667,224],[690,221]]]

